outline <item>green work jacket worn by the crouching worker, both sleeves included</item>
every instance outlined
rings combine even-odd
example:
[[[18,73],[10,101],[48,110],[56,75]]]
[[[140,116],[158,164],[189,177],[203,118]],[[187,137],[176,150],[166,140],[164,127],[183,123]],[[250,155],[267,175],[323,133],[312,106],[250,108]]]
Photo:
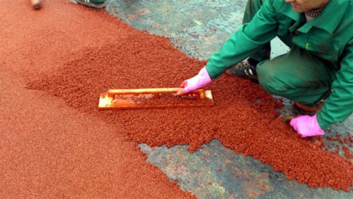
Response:
[[[349,117],[353,113],[353,0],[330,0],[322,13],[307,23],[305,15],[294,12],[284,0],[266,0],[256,16],[210,56],[206,65],[209,76],[218,79],[275,36],[337,69],[333,92],[317,114],[321,129]]]

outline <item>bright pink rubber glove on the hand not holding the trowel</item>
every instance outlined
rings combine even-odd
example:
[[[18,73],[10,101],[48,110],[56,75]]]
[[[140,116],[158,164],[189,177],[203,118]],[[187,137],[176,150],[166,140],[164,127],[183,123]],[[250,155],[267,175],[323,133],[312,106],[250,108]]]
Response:
[[[302,137],[325,134],[319,126],[315,116],[298,116],[290,121],[290,126],[294,128]]]

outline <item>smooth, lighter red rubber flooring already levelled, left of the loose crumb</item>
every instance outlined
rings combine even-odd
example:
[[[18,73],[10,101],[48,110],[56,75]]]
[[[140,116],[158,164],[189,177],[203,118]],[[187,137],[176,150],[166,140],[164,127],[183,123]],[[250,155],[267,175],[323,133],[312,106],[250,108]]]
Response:
[[[25,89],[27,74],[51,73],[132,28],[66,0],[39,11],[3,0],[0,27],[0,198],[192,197],[114,126]]]

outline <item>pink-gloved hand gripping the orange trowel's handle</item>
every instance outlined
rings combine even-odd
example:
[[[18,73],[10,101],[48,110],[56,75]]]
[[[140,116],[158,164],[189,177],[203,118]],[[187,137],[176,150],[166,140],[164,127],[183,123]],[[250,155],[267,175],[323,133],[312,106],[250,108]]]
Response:
[[[194,91],[198,88],[202,88],[211,82],[211,78],[209,77],[209,73],[206,70],[206,67],[201,68],[200,72],[193,78],[185,80],[180,84],[179,87],[184,89],[178,91],[176,95],[185,95],[190,91]]]

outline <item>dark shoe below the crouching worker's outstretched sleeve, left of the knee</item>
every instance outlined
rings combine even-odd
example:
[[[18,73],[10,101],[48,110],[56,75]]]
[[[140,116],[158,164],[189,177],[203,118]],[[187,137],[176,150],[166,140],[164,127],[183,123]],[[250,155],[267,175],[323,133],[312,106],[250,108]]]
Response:
[[[235,66],[232,66],[225,71],[226,74],[233,77],[249,78],[257,80],[256,65],[257,63],[251,63],[251,59],[239,62]]]

